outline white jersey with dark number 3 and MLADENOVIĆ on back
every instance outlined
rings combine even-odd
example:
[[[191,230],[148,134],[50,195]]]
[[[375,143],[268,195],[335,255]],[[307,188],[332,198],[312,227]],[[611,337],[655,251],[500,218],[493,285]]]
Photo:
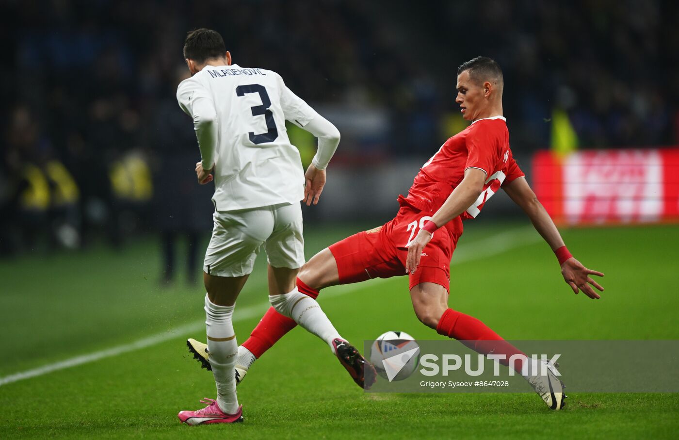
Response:
[[[304,170],[285,120],[305,126],[318,113],[291,92],[278,73],[208,65],[181,81],[177,100],[194,122],[200,119],[199,101],[201,106],[211,103],[216,113],[216,210],[297,203],[304,198]]]

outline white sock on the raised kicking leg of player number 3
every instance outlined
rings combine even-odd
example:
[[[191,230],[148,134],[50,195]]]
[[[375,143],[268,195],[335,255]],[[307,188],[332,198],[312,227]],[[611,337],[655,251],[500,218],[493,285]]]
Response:
[[[331,350],[333,350],[333,339],[337,337],[342,339],[342,336],[337,333],[335,327],[321,310],[316,299],[308,297],[304,293],[299,293],[297,287],[283,295],[269,295],[269,302],[274,306],[276,312],[292,318],[295,323],[320,337],[330,346]]]

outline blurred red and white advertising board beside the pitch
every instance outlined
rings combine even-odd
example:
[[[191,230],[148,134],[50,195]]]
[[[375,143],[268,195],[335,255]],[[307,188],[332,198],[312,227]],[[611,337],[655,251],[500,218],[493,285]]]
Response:
[[[679,148],[540,151],[532,185],[559,223],[679,221]]]

